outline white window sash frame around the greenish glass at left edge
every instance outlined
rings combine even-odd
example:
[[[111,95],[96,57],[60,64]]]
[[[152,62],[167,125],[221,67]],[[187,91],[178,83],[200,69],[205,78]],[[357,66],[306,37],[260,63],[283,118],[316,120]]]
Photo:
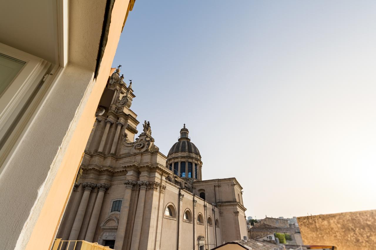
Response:
[[[2,140],[51,63],[2,43],[0,43],[0,53],[25,62],[0,97],[0,140]]]

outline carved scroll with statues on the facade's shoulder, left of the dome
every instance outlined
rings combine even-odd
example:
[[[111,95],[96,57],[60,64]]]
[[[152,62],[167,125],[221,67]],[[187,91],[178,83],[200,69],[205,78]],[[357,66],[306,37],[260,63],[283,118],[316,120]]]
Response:
[[[146,126],[147,126],[147,123],[146,123]],[[144,132],[141,133],[134,142],[127,142],[127,137],[125,136],[125,134],[123,134],[123,144],[126,147],[130,148],[129,152],[131,154],[147,152],[147,151],[157,152],[159,151],[159,148],[154,145],[154,138],[151,136],[151,133],[152,131],[150,129],[150,123],[149,123],[149,127],[146,127],[144,129]]]

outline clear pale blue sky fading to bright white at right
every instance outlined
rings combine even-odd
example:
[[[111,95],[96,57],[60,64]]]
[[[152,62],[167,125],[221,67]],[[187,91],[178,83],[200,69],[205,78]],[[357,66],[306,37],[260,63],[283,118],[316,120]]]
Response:
[[[375,24],[376,1],[136,1],[113,66],[160,151],[185,123],[247,216],[375,209]]]

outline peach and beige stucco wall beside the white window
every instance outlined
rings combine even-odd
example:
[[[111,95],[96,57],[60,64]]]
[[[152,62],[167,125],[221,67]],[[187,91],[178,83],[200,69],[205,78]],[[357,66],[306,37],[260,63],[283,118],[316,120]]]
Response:
[[[115,2],[100,73],[97,80],[93,81],[103,23],[98,17],[103,16],[104,3],[87,1],[86,6],[84,1],[81,2],[70,15],[72,33],[69,42],[77,51],[73,51],[72,60],[68,60],[37,111],[27,135],[9,163],[12,168],[2,173],[1,189],[9,201],[7,198],[2,200],[13,211],[15,207],[18,208],[17,213],[4,213],[7,218],[3,223],[15,226],[3,227],[8,232],[2,232],[1,238],[9,243],[3,244],[8,249],[13,248],[16,241],[17,249],[50,247],[68,201],[117,48],[127,0]],[[100,24],[96,26],[98,22]],[[8,182],[24,185],[9,185]],[[23,206],[12,204],[20,200]]]

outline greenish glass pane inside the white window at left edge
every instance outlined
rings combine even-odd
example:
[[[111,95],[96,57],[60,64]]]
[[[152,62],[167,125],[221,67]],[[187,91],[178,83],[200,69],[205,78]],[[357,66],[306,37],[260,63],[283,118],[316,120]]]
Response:
[[[0,96],[24,65],[25,62],[0,53]]]

